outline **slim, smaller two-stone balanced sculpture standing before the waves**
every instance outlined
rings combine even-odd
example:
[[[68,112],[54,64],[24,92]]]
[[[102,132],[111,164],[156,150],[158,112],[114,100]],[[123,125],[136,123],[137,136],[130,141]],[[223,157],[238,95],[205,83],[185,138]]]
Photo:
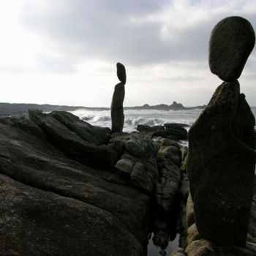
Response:
[[[117,77],[121,83],[115,86],[111,103],[112,132],[122,132],[124,127],[124,85],[127,82],[125,67],[121,63],[116,64]]]

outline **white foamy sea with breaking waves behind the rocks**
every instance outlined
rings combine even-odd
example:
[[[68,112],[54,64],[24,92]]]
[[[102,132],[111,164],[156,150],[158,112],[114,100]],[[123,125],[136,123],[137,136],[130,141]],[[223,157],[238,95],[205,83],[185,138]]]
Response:
[[[191,126],[202,110],[124,110],[124,132],[135,131],[138,124],[149,126],[165,123],[182,123]],[[89,124],[99,127],[111,127],[110,110],[79,109],[72,112]]]

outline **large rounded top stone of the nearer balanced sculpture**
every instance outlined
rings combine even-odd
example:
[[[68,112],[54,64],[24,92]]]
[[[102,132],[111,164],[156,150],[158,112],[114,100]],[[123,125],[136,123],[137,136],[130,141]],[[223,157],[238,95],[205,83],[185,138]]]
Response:
[[[211,31],[209,66],[220,79],[237,80],[255,46],[255,31],[248,20],[232,16],[220,20]]]

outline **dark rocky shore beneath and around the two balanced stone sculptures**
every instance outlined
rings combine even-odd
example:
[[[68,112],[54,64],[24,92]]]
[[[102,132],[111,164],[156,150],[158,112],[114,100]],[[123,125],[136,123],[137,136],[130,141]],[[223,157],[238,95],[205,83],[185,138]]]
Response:
[[[0,255],[142,256],[150,233],[162,255],[177,233],[189,256],[224,250],[201,241],[192,224],[188,148],[178,140],[111,133],[71,113],[38,110],[0,118],[0,138]],[[256,252],[252,203],[243,255]]]

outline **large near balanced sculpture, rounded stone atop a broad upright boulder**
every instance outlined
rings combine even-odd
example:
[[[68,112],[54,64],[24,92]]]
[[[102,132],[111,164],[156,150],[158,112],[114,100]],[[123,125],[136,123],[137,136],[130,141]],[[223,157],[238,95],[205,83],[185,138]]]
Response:
[[[209,66],[224,80],[189,130],[188,176],[202,238],[246,245],[255,176],[255,118],[238,78],[255,45],[251,24],[221,20],[211,33]]]

